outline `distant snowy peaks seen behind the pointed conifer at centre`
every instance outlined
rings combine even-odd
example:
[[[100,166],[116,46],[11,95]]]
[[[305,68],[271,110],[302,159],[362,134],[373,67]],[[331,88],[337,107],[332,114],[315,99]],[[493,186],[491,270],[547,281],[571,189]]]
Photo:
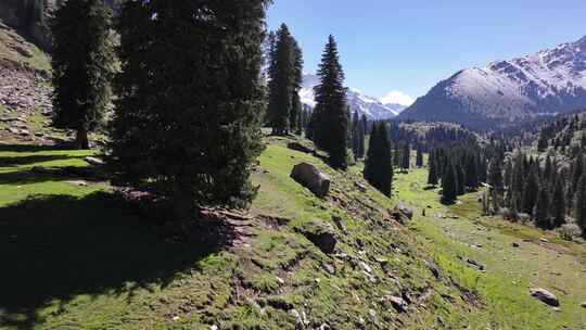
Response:
[[[302,89],[300,90],[302,103],[311,107],[316,106],[314,87],[318,84],[318,76],[304,74]],[[351,112],[358,111],[359,115],[365,114],[369,120],[393,118],[406,107],[400,104],[383,104],[381,101],[365,96],[354,88],[348,89],[346,98],[351,106]]]

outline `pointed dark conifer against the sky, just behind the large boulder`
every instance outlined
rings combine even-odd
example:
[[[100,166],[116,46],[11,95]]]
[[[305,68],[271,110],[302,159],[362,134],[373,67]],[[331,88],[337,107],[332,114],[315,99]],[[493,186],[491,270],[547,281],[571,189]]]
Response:
[[[340,64],[337,45],[329,37],[319,64],[320,82],[315,87],[315,142],[318,148],[330,153],[333,167],[346,169],[346,88],[344,72]]]

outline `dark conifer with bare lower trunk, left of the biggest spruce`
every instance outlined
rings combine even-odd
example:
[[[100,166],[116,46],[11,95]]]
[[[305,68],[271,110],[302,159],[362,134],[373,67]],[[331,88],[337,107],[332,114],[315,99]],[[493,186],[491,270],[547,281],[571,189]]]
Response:
[[[111,102],[114,48],[111,12],[100,0],[67,1],[56,11],[53,34],[53,125],[77,131],[76,148],[103,124]]]

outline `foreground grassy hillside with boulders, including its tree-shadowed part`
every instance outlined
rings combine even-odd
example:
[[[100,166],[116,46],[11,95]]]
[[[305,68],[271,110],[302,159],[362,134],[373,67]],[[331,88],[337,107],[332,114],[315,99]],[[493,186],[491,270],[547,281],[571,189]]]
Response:
[[[475,308],[448,277],[432,276],[417,238],[384,220],[391,200],[370,189],[359,193],[359,178],[284,142],[271,141],[260,157],[252,213],[291,221],[258,226],[237,250],[167,242],[104,192],[106,183],[30,173],[38,165],[84,166],[79,157],[87,152],[1,147],[0,251],[10,267],[0,282],[0,328],[293,329],[291,308],[314,328],[472,322]],[[316,199],[289,178],[302,161],[334,178],[333,198]],[[322,254],[296,232],[308,219],[330,221],[333,214],[348,228],[337,232],[339,250],[354,262]],[[371,276],[359,262],[372,267]],[[415,303],[399,315],[381,299],[402,291]]]

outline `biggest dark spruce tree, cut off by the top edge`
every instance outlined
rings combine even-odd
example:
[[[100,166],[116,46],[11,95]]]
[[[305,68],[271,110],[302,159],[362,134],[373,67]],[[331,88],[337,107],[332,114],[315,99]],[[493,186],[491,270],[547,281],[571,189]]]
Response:
[[[268,1],[126,1],[110,164],[174,220],[244,206],[262,151],[260,45]],[[196,77],[196,78],[194,78]]]

